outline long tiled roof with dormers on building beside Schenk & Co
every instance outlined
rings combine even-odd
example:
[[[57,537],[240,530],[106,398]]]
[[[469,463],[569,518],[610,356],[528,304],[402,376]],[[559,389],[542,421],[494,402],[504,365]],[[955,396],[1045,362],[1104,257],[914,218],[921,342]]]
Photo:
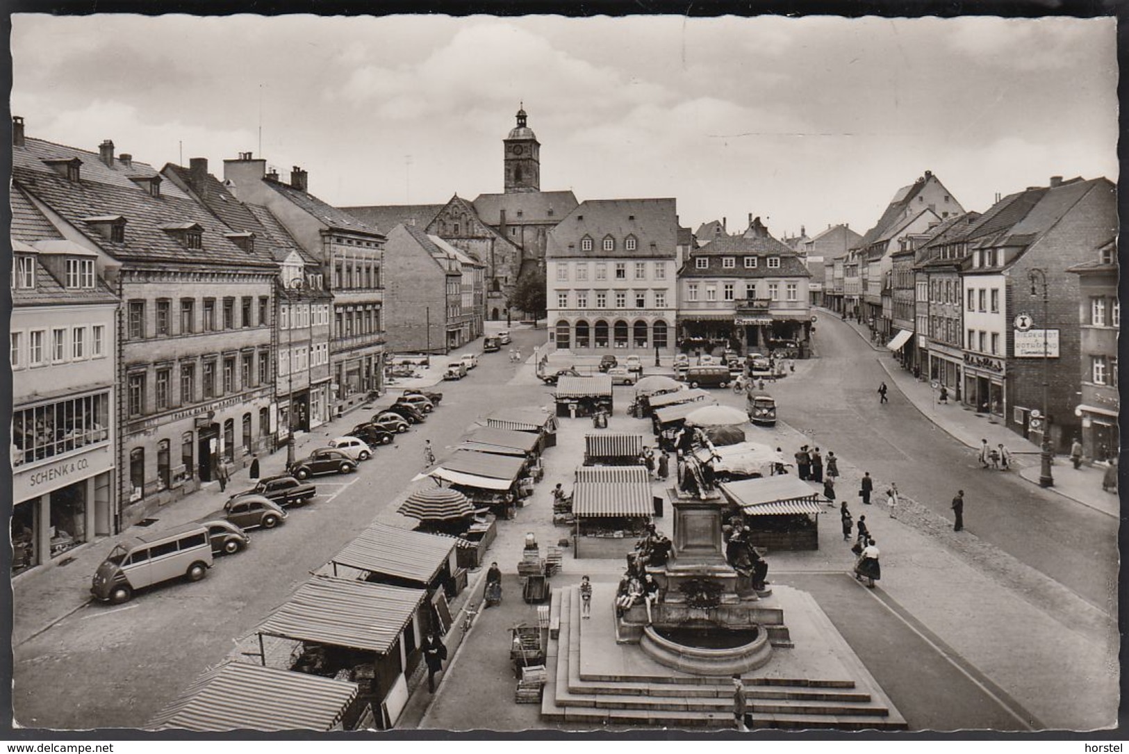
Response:
[[[69,150],[69,151],[68,151]],[[160,196],[151,196],[126,175],[126,168],[110,168],[97,156],[84,159],[82,150],[69,149],[36,139],[12,148],[15,185],[59,212],[108,254],[138,262],[238,264],[273,266],[264,255],[248,254],[225,237],[230,228],[220,222],[170,181],[161,184]],[[71,182],[58,174],[45,159],[77,156],[82,159],[81,179]],[[89,169],[88,169],[89,167]],[[133,163],[131,174],[157,175],[149,166]],[[85,218],[120,214],[125,218],[125,240],[102,237]],[[163,226],[195,222],[203,230],[202,248],[187,248]]]

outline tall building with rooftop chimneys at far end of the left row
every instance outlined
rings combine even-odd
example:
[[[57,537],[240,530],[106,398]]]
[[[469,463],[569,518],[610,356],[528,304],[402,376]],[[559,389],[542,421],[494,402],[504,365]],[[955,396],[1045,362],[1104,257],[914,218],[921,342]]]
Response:
[[[368,400],[384,384],[384,235],[309,193],[309,176],[295,166],[290,182],[266,173],[251,152],[224,160],[224,183],[240,201],[261,204],[316,258],[333,295],[331,415]]]

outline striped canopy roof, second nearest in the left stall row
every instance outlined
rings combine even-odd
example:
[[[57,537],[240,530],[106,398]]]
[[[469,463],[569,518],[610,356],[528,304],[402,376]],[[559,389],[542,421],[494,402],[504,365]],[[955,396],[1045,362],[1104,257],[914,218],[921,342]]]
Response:
[[[315,576],[257,632],[385,655],[425,597],[426,589]]]

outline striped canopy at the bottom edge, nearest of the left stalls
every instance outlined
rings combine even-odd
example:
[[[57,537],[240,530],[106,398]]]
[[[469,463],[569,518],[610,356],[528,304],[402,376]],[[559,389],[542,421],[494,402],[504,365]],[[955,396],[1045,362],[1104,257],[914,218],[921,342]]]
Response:
[[[227,660],[203,673],[149,730],[332,730],[356,683]]]

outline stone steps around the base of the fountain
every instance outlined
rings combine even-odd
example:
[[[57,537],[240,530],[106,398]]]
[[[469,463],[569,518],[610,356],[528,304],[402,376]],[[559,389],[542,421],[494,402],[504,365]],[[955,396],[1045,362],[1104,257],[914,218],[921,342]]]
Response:
[[[581,677],[579,594],[560,589],[558,638],[550,639],[541,713],[546,719],[593,725],[733,726],[728,677],[660,675]],[[854,682],[756,677],[745,693],[756,727],[870,729],[904,728],[896,713],[872,701]]]

